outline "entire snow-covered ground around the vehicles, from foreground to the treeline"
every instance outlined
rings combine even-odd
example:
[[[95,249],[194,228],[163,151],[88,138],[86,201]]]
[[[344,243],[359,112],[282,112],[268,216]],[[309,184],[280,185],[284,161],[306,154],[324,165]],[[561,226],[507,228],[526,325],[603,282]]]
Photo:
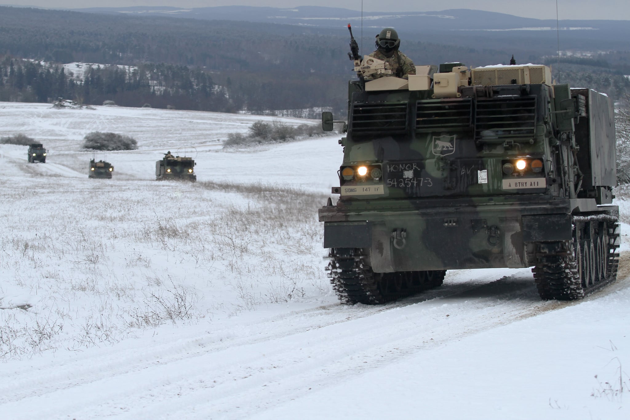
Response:
[[[524,269],[338,305],[316,216],[338,137],[221,149],[273,119],[0,103],[0,137],[49,149],[0,145],[2,418],[630,417],[626,243],[620,280],[581,302],[541,302]],[[87,176],[96,130],[139,143],[96,155],[111,180]],[[154,181],[185,146],[198,182]]]

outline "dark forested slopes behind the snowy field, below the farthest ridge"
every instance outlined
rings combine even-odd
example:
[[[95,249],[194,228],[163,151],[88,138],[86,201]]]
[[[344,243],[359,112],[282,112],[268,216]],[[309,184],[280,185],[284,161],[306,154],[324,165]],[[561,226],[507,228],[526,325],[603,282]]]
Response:
[[[86,105],[113,100],[124,106],[255,113],[327,107],[343,113],[352,62],[348,31],[340,26],[324,30],[0,7],[0,100],[61,97]],[[372,36],[365,37],[364,53],[374,47]],[[474,66],[506,63],[514,53],[404,38],[401,50],[416,64],[459,61]],[[518,62],[541,60],[526,54],[517,51]],[[613,98],[630,92],[617,68],[625,65],[627,54],[612,58],[580,61],[580,68],[567,72],[563,81],[573,86],[590,81],[588,87]],[[62,70],[60,64],[69,62],[101,66],[86,72],[83,80]]]

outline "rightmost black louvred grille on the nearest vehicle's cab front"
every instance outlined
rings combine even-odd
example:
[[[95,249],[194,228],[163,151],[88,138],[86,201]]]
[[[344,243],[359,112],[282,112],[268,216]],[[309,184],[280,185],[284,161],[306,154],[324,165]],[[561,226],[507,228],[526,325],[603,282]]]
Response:
[[[533,139],[536,97],[477,99],[475,139]]]

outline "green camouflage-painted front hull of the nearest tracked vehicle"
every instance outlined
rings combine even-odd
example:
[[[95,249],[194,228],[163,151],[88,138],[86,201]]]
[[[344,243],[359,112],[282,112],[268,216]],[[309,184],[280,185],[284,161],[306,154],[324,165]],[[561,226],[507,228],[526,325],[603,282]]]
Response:
[[[350,82],[341,197],[319,210],[324,247],[362,248],[376,273],[528,267],[534,260],[528,241],[571,239],[568,215],[609,202],[600,196],[610,183],[575,191],[570,146],[581,141],[580,153],[589,153],[601,139],[559,130],[573,120],[556,112],[571,98],[568,86],[461,92],[432,99],[432,91],[365,92]],[[610,120],[607,111],[588,111]],[[524,171],[503,171],[519,160],[527,162]],[[539,172],[534,161],[542,163]],[[360,166],[367,175],[356,174]],[[349,179],[347,167],[355,169]],[[374,169],[380,177],[370,176],[379,174]]]

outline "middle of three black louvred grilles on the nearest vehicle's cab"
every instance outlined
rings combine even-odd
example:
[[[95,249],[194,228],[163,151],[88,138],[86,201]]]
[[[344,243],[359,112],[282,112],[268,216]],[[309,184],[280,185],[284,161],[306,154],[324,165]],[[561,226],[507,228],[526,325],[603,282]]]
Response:
[[[470,98],[418,101],[416,105],[416,130],[457,130],[470,128],[473,120],[473,101]]]

